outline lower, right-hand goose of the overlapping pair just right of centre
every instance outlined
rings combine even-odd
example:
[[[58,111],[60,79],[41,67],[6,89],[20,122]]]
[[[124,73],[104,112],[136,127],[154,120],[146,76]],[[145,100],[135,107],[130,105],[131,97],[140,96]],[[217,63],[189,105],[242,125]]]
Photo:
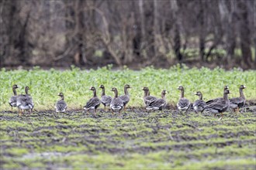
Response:
[[[168,93],[166,90],[163,90],[161,92],[161,98],[154,100],[152,103],[150,103],[146,109],[147,110],[163,110],[166,107],[166,97],[165,94]]]

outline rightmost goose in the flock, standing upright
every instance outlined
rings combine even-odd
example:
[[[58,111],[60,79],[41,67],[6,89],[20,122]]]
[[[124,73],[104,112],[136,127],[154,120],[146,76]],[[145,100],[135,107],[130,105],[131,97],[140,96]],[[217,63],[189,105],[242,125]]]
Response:
[[[243,90],[246,87],[244,85],[240,85],[239,87],[239,93],[240,97],[234,97],[230,99],[230,108],[234,109],[234,111],[237,109],[237,112],[239,111],[239,108],[244,107],[245,104],[245,97]]]

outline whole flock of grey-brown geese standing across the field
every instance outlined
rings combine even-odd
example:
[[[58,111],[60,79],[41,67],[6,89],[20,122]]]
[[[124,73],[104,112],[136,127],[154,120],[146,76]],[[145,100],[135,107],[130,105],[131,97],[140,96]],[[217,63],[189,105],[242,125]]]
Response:
[[[17,88],[19,87],[16,84],[12,86],[14,96],[9,99],[10,106],[18,107],[19,115],[22,115],[22,110],[29,110],[29,113],[31,113],[34,104],[32,97],[28,93],[29,87],[25,87],[25,94],[19,95],[17,95],[16,93]],[[93,97],[85,104],[85,111],[94,110],[94,113],[96,113],[97,108],[100,104],[103,104],[105,110],[106,107],[110,107],[110,109],[112,110],[112,114],[114,112],[119,112],[120,114],[121,110],[126,110],[126,105],[130,101],[128,89],[131,87],[129,84],[126,84],[124,86],[124,95],[121,96],[118,95],[116,87],[112,87],[114,97],[106,95],[105,87],[103,85],[100,85],[99,88],[102,89],[101,99],[97,97],[96,88],[90,88],[90,90],[92,90],[93,92]],[[195,100],[195,102],[192,104],[188,99],[184,97],[184,87],[179,86],[178,90],[181,91],[181,94],[177,103],[177,107],[178,110],[180,110],[181,112],[185,112],[189,110],[190,107],[192,107],[196,113],[207,112],[212,113],[215,116],[216,114],[221,114],[221,117],[223,117],[223,112],[227,111],[229,108],[233,109],[234,111],[239,111],[240,107],[244,107],[245,97],[243,90],[245,88],[246,87],[244,85],[240,85],[240,97],[228,99],[228,94],[230,93],[230,90],[228,86],[225,86],[223,90],[223,97],[218,97],[208,101],[202,100],[202,93],[200,91],[197,91],[195,95],[199,96],[199,100]],[[144,90],[144,104],[147,110],[163,110],[166,107],[167,101],[165,98],[165,94],[168,93],[166,90],[163,90],[161,92],[161,98],[150,96],[150,90],[148,87],[143,87],[142,90]],[[67,109],[67,104],[64,101],[64,93],[59,93],[58,96],[61,97],[61,100],[58,100],[55,104],[56,112],[65,112]]]

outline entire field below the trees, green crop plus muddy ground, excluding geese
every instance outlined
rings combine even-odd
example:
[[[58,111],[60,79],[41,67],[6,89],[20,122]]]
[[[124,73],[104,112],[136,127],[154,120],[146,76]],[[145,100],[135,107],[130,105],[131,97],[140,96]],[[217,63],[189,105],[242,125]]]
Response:
[[[0,168],[80,168],[80,169],[255,169],[256,168],[256,73],[179,66],[169,70],[148,67],[134,71],[111,70],[12,70],[0,72]],[[29,86],[33,97],[32,114],[19,117],[8,100],[12,85],[18,93]],[[82,107],[100,84],[113,96],[112,87],[123,94],[129,83],[130,103],[121,115],[112,116],[102,105],[96,116],[85,114]],[[179,91],[194,101],[200,90],[204,100],[223,96],[223,86],[238,97],[244,84],[247,107],[241,113],[226,112],[223,119],[211,114],[180,114],[175,110]],[[160,97],[168,90],[171,109],[144,110],[142,87]],[[57,93],[63,92],[67,112],[54,113]]]

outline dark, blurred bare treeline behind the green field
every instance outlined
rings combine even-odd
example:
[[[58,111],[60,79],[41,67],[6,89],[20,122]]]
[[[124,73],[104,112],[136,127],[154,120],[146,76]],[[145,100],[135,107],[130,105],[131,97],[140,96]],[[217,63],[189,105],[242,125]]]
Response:
[[[253,0],[0,0],[1,66],[255,68]]]

